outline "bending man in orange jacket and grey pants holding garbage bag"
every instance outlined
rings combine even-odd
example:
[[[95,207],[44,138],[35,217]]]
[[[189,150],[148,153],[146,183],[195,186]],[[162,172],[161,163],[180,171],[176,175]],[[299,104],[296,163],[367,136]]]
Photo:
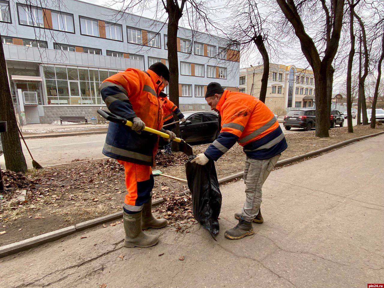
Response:
[[[260,211],[262,186],[275,167],[287,143],[271,110],[255,97],[225,90],[216,82],[207,86],[205,100],[221,116],[218,138],[191,162],[205,165],[216,161],[236,142],[246,154],[244,183],[246,200],[241,213],[235,213],[238,224],[225,232],[231,240],[253,235],[252,222],[263,223]]]

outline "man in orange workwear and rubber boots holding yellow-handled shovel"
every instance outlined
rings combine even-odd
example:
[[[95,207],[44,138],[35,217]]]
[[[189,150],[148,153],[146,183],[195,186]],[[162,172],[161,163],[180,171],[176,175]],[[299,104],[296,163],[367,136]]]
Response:
[[[109,122],[103,154],[124,165],[127,195],[123,206],[125,247],[150,247],[159,238],[142,229],[162,228],[166,219],[152,215],[154,179],[151,166],[159,137],[141,132],[146,126],[162,130],[174,139],[173,132],[162,129],[163,101],[159,94],[169,83],[169,70],[161,62],[147,71],[128,68],[105,79],[100,93],[109,111],[133,122],[132,127]],[[169,139],[167,139],[169,141]]]

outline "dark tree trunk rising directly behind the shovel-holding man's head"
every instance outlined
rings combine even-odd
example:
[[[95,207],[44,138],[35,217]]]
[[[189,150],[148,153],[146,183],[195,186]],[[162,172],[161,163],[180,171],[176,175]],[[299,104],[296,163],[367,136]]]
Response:
[[[175,1],[177,2],[177,1]],[[179,27],[179,20],[182,12],[178,5],[172,0],[167,0],[167,13],[168,13],[168,29],[167,29],[167,48],[168,48],[168,63],[169,63],[169,99],[177,107],[179,107],[179,65],[177,56],[177,30]],[[173,132],[179,137],[180,126],[177,123],[176,127],[172,129]],[[172,141],[172,151],[179,151],[177,142]]]

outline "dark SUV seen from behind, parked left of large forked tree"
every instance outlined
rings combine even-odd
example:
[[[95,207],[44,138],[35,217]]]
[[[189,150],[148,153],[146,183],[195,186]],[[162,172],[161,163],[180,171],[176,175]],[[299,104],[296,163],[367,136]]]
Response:
[[[291,110],[284,116],[283,125],[286,130],[291,127],[304,128],[310,131],[316,124],[316,115],[314,109],[308,110]]]

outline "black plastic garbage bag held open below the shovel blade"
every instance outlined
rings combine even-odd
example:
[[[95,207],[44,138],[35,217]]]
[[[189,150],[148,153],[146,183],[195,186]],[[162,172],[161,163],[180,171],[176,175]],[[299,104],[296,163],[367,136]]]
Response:
[[[190,156],[185,163],[188,188],[192,193],[193,215],[215,239],[219,231],[217,218],[221,209],[221,193],[215,163],[212,160],[205,165],[191,163],[190,161],[195,157]]]

